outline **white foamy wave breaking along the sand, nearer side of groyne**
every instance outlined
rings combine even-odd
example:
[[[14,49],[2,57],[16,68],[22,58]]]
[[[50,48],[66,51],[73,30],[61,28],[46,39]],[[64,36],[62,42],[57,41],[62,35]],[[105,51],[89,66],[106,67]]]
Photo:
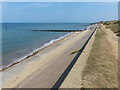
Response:
[[[65,37],[67,37],[67,36],[70,35],[71,33],[72,33],[72,32],[67,33],[67,34],[65,34],[64,36],[60,36],[60,37],[57,38],[57,39],[52,39],[51,41],[43,44],[40,48],[33,49],[32,52],[29,52],[27,55],[25,55],[25,56],[23,56],[23,57],[21,57],[21,58],[17,58],[16,60],[14,60],[14,62],[10,63],[9,65],[2,65],[2,67],[0,67],[0,71],[3,71],[3,70],[5,70],[5,69],[7,69],[7,68],[9,68],[9,67],[11,67],[11,66],[13,66],[13,65],[15,65],[15,64],[17,64],[17,63],[19,63],[19,62],[21,62],[21,61],[23,61],[24,59],[26,59],[26,58],[34,55],[36,52],[40,51],[41,49],[43,49],[43,48],[45,48],[45,47],[47,47],[47,46],[49,46],[49,45],[51,45],[51,44],[53,44],[53,43],[55,43],[55,42],[57,42],[57,41],[65,38]]]

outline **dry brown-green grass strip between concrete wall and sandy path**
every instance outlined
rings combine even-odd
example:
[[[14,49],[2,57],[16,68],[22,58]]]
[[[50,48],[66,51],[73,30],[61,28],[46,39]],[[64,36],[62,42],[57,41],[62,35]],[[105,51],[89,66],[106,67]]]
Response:
[[[117,87],[117,59],[111,49],[104,30],[99,28],[83,72],[83,88]]]

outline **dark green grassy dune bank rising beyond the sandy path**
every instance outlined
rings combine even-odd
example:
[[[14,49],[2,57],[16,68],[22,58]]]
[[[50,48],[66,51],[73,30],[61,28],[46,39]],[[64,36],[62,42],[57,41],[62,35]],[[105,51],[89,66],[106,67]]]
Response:
[[[117,36],[120,36],[120,21],[114,20],[114,21],[106,21],[103,23],[106,25],[106,28],[111,29],[114,33],[116,33]]]

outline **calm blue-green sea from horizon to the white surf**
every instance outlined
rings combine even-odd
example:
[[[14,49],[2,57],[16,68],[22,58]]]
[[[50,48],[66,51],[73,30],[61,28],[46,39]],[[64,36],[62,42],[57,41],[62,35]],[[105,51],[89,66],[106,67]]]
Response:
[[[89,23],[4,23],[2,24],[2,66],[8,67],[37,50],[68,35],[67,32],[34,32],[31,30],[76,30]]]

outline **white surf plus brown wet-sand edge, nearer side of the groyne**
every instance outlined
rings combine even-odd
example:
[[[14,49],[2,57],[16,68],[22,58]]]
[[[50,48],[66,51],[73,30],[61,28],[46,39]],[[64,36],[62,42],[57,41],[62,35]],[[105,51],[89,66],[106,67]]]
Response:
[[[80,32],[82,32],[82,31],[80,31]],[[73,32],[72,32],[72,33],[73,33]],[[37,49],[35,49],[33,52],[31,52],[32,54],[26,55],[26,56],[24,56],[23,59],[18,60],[18,61],[16,61],[16,62],[13,62],[13,63],[7,65],[5,68],[0,69],[0,72],[2,72],[2,71],[4,71],[4,70],[7,70],[7,69],[9,69],[9,68],[12,67],[12,66],[15,66],[16,64],[19,64],[19,63],[25,61],[26,59],[29,59],[29,58],[33,57],[34,55],[38,54],[39,52],[41,52],[41,51],[44,50],[45,48],[51,46],[52,44],[55,44],[56,42],[59,42],[59,41],[63,40],[64,38],[69,37],[72,33],[67,33],[67,34],[65,34],[64,36],[60,36],[59,38],[52,39],[52,40],[56,40],[56,41],[54,41],[54,42],[51,43],[51,44],[49,44],[49,43],[52,41],[52,40],[50,40],[49,42],[45,43],[45,44],[48,44],[48,45],[45,46],[45,44],[43,44],[40,48],[37,48]]]

